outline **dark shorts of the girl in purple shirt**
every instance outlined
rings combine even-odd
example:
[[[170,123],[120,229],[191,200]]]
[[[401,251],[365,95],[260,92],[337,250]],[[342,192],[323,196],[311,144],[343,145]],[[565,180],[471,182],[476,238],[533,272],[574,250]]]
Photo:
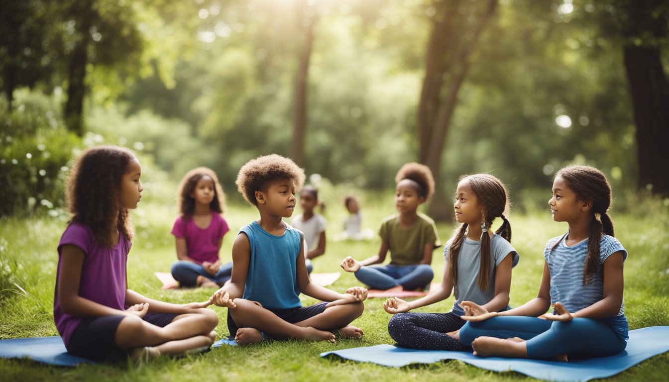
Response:
[[[149,313],[142,320],[156,326],[165,327],[177,316],[174,313]],[[128,353],[116,346],[116,329],[125,316],[100,316],[84,318],[66,345],[68,353],[93,361],[117,361],[125,359]]]

